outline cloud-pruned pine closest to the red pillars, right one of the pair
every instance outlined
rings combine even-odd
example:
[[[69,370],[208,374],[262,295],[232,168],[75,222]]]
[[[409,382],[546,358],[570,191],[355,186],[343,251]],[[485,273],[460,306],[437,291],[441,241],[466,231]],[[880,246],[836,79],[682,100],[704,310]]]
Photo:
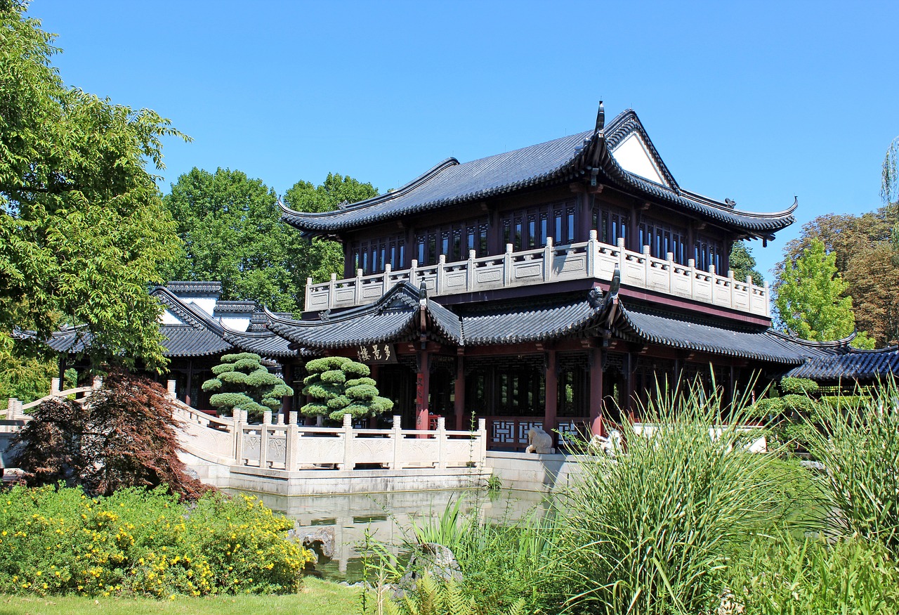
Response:
[[[377,382],[369,378],[371,370],[364,363],[346,357],[324,357],[306,364],[309,375],[303,379],[303,395],[313,401],[300,408],[307,416],[327,416],[343,420],[378,416],[393,409],[393,402],[378,395]]]

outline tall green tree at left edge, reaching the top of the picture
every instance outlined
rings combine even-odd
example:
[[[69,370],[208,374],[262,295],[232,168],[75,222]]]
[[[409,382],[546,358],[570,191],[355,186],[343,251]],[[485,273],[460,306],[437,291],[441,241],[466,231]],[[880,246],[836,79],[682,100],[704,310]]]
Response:
[[[94,360],[165,363],[147,283],[177,249],[147,165],[180,136],[156,112],[64,85],[54,36],[0,2],[0,352],[13,327],[85,325]]]

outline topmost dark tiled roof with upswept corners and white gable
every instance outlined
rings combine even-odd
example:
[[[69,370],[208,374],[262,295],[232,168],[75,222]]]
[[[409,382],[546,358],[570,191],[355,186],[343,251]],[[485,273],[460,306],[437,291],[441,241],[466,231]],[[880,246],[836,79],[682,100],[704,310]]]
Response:
[[[588,130],[464,164],[459,164],[455,158],[448,158],[394,192],[336,211],[305,213],[282,205],[281,219],[303,231],[335,233],[456,203],[480,201],[529,186],[583,177],[595,168],[601,182],[617,184],[631,192],[653,197],[674,209],[687,209],[700,218],[712,219],[751,235],[770,236],[794,221],[792,213],[796,203],[792,208],[778,213],[752,213],[682,191],[661,159],[660,168],[671,186],[649,182],[628,173],[612,156],[610,148],[634,131],[640,132],[657,156],[636,113],[628,110],[619,114],[604,129]]]

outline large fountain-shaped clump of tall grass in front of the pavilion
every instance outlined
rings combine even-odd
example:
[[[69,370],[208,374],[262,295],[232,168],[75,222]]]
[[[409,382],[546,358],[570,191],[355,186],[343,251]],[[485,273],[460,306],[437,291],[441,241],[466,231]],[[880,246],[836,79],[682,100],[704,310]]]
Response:
[[[616,615],[714,610],[736,550],[785,514],[770,457],[745,450],[743,407],[723,425],[719,393],[657,389],[641,412],[651,433],[625,423],[625,454],[582,456],[559,503],[556,602]]]

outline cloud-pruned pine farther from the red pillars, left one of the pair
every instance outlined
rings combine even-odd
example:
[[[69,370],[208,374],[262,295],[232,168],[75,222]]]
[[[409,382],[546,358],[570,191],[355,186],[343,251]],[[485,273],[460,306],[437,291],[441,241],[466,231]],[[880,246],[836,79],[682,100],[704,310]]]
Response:
[[[204,382],[203,390],[213,394],[209,404],[224,414],[240,408],[259,419],[266,410],[280,408],[282,397],[293,396],[293,389],[269,373],[253,352],[222,355],[222,362],[212,368],[212,373],[215,378]]]

